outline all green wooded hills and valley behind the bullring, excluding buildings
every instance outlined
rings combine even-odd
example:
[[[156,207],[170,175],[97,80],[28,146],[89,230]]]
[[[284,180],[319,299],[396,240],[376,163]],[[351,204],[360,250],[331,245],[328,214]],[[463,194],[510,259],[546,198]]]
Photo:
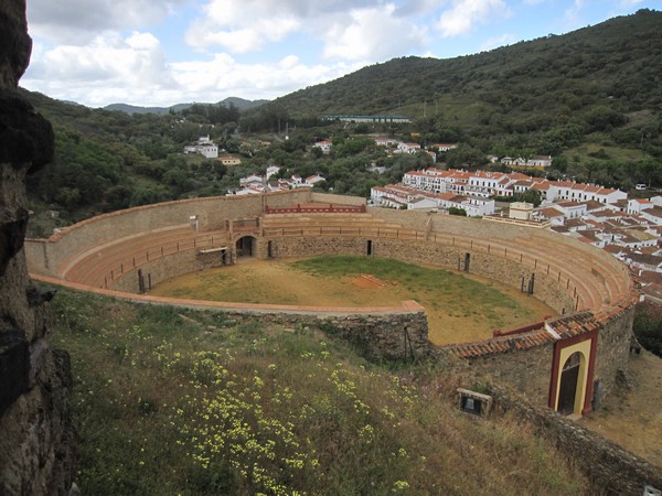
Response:
[[[425,153],[388,157],[369,133],[459,143],[439,157],[448,166],[488,166],[489,154],[545,154],[554,157],[551,177],[662,187],[662,13],[650,10],[477,55],[396,58],[253,109],[228,99],[164,115],[127,114],[25,95],[56,137],[54,163],[30,180],[31,208],[57,211],[60,225],[225,194],[269,163],[281,165],[282,175],[323,174],[318,187],[354,195],[431,165]],[[412,122],[322,120],[339,114],[402,115]],[[242,165],[182,154],[206,134]],[[311,149],[319,139],[333,141],[331,154]],[[33,222],[32,234],[47,235],[52,224]]]

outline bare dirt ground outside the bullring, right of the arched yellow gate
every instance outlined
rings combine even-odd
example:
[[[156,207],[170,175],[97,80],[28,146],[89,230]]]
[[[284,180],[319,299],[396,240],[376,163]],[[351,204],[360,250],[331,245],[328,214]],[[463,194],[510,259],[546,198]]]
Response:
[[[662,358],[642,352],[629,369],[632,389],[618,388],[580,423],[662,470]]]

